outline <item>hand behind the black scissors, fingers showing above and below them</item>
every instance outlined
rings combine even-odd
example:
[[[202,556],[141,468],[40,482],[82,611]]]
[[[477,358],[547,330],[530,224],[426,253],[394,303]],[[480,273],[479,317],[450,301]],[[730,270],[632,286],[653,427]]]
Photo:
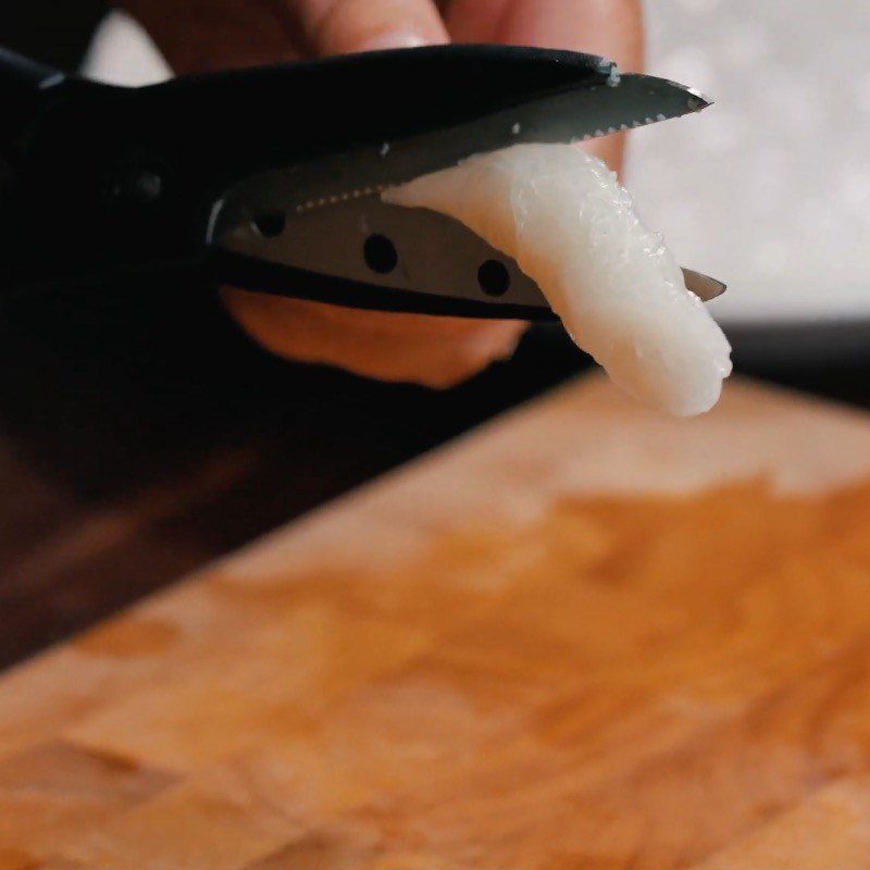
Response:
[[[642,64],[639,0],[122,0],[177,73],[450,40],[566,48]],[[591,149],[621,167],[621,135]],[[284,357],[446,387],[509,357],[524,325],[357,311],[241,290],[224,301]]]

